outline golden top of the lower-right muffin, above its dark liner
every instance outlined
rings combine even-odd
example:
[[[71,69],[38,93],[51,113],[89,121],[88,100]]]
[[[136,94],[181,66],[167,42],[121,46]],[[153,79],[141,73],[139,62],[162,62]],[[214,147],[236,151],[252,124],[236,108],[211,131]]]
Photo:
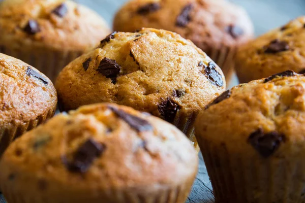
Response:
[[[286,71],[227,90],[199,113],[195,130],[231,152],[291,157],[305,147],[304,122],[305,77]]]

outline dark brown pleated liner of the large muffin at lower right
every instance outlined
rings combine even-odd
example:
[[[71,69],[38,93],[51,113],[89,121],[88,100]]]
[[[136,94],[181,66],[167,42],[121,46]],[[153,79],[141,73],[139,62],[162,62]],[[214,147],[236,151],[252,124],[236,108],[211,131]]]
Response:
[[[248,157],[198,138],[216,203],[305,202],[303,157]]]

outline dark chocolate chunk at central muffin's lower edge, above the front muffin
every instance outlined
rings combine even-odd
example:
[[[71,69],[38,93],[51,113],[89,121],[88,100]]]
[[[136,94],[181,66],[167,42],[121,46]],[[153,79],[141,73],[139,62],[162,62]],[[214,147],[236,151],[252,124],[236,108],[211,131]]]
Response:
[[[164,120],[170,123],[175,120],[179,108],[179,105],[177,105],[170,97],[164,101],[161,101],[161,103],[158,105],[158,110],[161,116],[164,118]]]

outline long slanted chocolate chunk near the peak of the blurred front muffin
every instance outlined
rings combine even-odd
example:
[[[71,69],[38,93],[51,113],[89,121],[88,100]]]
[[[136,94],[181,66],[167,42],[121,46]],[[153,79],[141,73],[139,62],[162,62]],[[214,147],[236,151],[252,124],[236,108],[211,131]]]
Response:
[[[140,117],[126,113],[123,110],[118,110],[113,107],[109,107],[119,118],[123,119],[129,126],[138,132],[153,130],[153,126],[150,123]]]

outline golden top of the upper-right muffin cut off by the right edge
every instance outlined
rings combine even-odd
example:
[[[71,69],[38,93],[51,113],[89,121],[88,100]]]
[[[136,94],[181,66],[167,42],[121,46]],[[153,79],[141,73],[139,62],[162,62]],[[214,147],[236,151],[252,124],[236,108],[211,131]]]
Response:
[[[236,71],[241,82],[261,79],[286,70],[305,69],[305,16],[269,31],[240,47]]]

